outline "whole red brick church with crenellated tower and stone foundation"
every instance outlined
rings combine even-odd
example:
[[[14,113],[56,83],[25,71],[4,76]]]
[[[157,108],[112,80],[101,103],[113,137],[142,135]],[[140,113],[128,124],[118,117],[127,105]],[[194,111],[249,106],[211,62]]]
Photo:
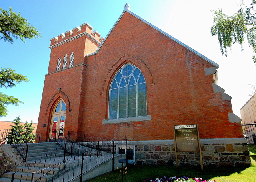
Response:
[[[130,11],[106,38],[84,23],[51,39],[37,132],[128,139],[131,162],[175,161],[174,126],[197,124],[204,165],[250,165],[219,65]],[[220,78],[221,79],[221,78]],[[196,153],[180,153],[184,164]]]

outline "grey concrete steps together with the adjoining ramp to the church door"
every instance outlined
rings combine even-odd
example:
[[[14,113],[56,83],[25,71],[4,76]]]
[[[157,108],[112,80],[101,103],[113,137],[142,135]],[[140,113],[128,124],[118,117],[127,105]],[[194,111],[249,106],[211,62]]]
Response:
[[[67,146],[69,145],[70,143],[67,143]],[[45,159],[40,158],[40,156],[42,157],[42,155],[46,154],[46,151],[49,152],[53,149],[56,149],[57,154],[54,153],[53,155],[45,156]],[[77,153],[86,150],[90,149],[87,147],[80,147],[80,149],[77,150]],[[102,172],[105,173],[112,170],[112,160],[110,159],[113,155],[101,152],[102,156],[99,155],[97,157],[96,153],[96,150],[92,150],[92,152],[86,153],[88,156],[84,156],[83,171],[89,170],[90,172],[88,171],[83,175],[83,180],[84,176],[86,176],[87,180],[88,178],[91,178],[91,176],[98,176],[99,174],[102,174]],[[63,155],[64,149],[57,143],[29,144],[27,161],[23,162],[22,166],[14,168],[12,172],[5,173],[4,176],[0,178],[0,182],[11,182],[13,173],[15,173],[14,182],[31,182],[33,172],[36,172],[34,181],[79,182],[82,161],[81,155],[68,155],[68,153],[66,153],[65,162],[62,163],[64,160]],[[40,160],[36,160],[39,158]],[[97,172],[95,172],[95,170]]]

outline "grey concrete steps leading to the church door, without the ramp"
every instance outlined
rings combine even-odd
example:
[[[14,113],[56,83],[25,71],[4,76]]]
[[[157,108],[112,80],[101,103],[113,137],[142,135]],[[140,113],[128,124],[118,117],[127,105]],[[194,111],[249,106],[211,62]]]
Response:
[[[49,153],[50,151],[52,152]],[[47,153],[49,154],[46,155]],[[10,182],[14,172],[14,182],[28,182],[31,181],[32,173],[40,170],[40,172],[35,173],[35,180],[38,178],[40,178],[41,182],[52,180],[54,176],[58,176],[64,169],[64,164],[56,164],[63,160],[62,156],[64,156],[64,149],[58,143],[29,143],[26,162],[13,168],[12,172],[6,172],[0,178],[0,182]],[[56,164],[55,166],[53,166],[54,163]],[[43,176],[46,173],[48,174]]]

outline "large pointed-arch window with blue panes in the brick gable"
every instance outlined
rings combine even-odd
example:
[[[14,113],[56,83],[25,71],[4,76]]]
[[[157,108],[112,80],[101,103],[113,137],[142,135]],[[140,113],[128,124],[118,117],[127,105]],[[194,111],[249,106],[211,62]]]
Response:
[[[147,115],[146,82],[139,68],[126,63],[110,85],[109,119]]]

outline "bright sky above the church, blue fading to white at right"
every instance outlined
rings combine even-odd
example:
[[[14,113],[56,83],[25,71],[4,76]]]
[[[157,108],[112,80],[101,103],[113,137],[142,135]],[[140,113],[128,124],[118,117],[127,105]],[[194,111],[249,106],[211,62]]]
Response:
[[[211,10],[222,8],[232,15],[238,9],[235,0],[6,0],[0,2],[0,7],[8,10],[11,6],[14,12],[21,12],[30,25],[42,32],[43,38],[26,40],[26,43],[18,39],[13,44],[0,41],[0,67],[12,68],[30,80],[15,88],[0,88],[0,92],[24,102],[20,106],[9,105],[8,116],[0,120],[13,121],[20,116],[24,122],[37,123],[50,58],[50,39],[85,22],[105,37],[125,3],[144,20],[218,63],[218,85],[232,96],[233,112],[240,117],[239,109],[250,98],[247,84],[256,83],[252,51],[247,45],[244,51],[234,45],[228,57],[224,57],[217,37],[210,35]]]

